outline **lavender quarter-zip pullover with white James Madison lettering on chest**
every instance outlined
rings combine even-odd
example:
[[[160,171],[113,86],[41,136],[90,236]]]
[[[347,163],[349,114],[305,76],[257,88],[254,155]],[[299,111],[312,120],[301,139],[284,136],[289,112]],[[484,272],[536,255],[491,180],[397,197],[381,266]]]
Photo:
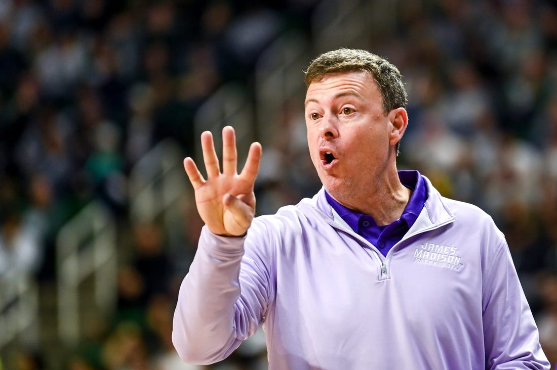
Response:
[[[504,235],[476,206],[427,200],[386,256],[321,189],[244,238],[203,228],[172,339],[221,361],[263,325],[269,369],[549,369]]]

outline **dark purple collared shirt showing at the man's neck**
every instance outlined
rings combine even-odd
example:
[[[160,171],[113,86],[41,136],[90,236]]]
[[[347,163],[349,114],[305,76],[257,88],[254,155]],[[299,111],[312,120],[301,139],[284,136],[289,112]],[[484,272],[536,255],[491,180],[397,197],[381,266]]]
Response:
[[[369,243],[375,245],[384,256],[387,255],[388,251],[393,248],[393,245],[397,244],[414,222],[416,222],[427,199],[426,184],[418,171],[398,171],[398,177],[404,186],[413,190],[413,193],[402,216],[389,225],[377,225],[372,216],[346,208],[325,191],[325,196],[336,213],[356,233],[363,236]]]

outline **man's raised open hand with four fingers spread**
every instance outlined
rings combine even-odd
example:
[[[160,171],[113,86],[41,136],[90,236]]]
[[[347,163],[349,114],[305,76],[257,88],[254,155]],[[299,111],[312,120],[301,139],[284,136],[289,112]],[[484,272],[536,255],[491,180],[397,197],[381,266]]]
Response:
[[[251,144],[240,174],[237,172],[236,135],[231,126],[222,129],[222,172],[211,132],[201,134],[201,147],[207,180],[203,179],[192,158],[184,159],[184,169],[195,191],[201,219],[214,234],[246,234],[255,215],[253,185],[261,161],[261,144]]]

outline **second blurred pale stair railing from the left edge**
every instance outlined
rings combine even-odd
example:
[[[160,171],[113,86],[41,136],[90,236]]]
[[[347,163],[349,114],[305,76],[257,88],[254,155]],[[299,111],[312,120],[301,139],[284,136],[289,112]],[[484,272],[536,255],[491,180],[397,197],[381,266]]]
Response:
[[[97,312],[109,317],[116,304],[116,229],[99,201],[85,206],[56,239],[58,336],[68,346],[81,338],[80,287],[94,278]]]

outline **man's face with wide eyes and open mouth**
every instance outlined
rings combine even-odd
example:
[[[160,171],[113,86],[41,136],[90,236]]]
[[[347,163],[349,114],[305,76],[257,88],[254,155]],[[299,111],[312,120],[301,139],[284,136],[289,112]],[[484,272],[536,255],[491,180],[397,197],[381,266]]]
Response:
[[[307,88],[305,120],[311,160],[341,203],[381,180],[394,154],[390,117],[373,76],[331,73]],[[394,163],[394,161],[393,161]]]

